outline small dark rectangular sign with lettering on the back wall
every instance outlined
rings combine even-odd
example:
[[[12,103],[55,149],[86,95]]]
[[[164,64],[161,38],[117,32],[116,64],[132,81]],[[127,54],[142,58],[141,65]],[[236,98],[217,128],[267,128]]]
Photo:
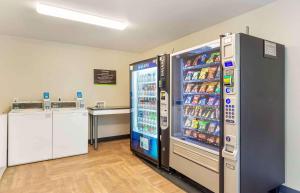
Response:
[[[117,84],[117,72],[115,70],[94,69],[94,84],[96,85]]]

